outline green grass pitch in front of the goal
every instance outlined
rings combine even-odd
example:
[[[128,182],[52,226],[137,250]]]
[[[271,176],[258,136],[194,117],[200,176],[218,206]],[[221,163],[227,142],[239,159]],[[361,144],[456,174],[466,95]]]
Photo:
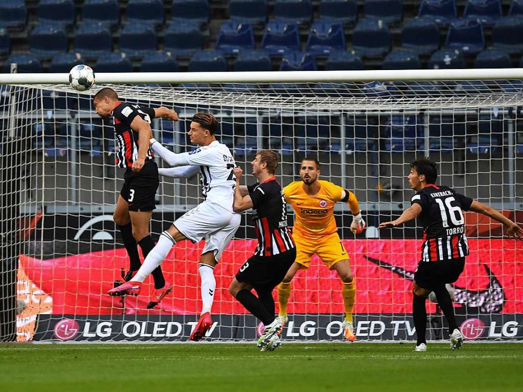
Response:
[[[3,344],[0,390],[521,391],[523,344]]]

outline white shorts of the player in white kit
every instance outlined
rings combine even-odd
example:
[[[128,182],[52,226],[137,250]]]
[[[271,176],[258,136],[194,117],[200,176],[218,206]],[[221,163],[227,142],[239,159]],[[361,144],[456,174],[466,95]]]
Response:
[[[176,219],[173,226],[194,243],[205,239],[201,254],[213,251],[214,259],[218,262],[240,227],[240,220],[240,214],[206,200]]]

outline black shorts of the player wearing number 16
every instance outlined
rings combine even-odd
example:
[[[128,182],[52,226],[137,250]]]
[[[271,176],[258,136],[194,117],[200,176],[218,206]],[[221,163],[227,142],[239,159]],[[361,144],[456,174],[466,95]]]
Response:
[[[419,287],[430,289],[436,286],[454,283],[465,267],[465,257],[459,259],[420,261],[414,281]]]

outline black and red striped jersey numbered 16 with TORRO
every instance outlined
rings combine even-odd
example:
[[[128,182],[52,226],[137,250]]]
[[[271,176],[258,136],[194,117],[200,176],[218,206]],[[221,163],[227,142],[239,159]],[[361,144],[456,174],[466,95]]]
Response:
[[[469,254],[462,210],[470,208],[471,198],[448,186],[429,184],[412,196],[412,204],[422,207],[418,216],[424,230],[422,261],[457,259]]]

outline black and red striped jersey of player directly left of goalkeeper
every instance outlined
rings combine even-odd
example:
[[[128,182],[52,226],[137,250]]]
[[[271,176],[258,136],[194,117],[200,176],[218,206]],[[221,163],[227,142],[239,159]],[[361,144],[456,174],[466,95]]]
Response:
[[[276,177],[247,187],[253,200],[253,220],[258,238],[256,256],[273,256],[295,248],[287,223],[287,201]]]

